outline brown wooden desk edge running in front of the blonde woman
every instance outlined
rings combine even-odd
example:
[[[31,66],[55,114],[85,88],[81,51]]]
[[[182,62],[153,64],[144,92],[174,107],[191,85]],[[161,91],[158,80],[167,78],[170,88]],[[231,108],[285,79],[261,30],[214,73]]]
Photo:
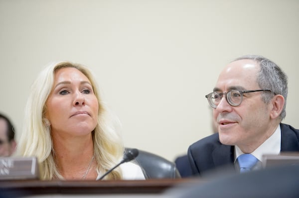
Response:
[[[0,181],[0,190],[21,192],[22,195],[41,194],[161,194],[176,185],[201,183],[195,178],[150,179],[119,181]]]

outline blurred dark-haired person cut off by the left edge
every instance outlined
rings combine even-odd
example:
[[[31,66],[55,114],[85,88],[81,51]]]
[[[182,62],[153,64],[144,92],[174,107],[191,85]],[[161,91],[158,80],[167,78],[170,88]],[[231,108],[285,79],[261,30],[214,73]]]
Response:
[[[0,157],[9,157],[15,151],[14,128],[10,120],[0,113]]]

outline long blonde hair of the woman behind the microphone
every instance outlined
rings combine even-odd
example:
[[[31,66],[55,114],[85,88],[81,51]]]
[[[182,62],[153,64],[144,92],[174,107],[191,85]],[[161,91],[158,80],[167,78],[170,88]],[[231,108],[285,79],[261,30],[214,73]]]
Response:
[[[51,129],[45,119],[45,103],[52,90],[56,71],[65,67],[74,67],[81,71],[90,80],[98,99],[98,124],[92,132],[97,173],[102,175],[111,169],[119,162],[124,152],[121,135],[114,128],[115,123],[100,98],[97,84],[89,69],[71,62],[50,64],[40,72],[31,86],[25,107],[23,132],[17,145],[17,154],[37,157],[42,180],[63,179],[55,164]],[[122,179],[121,169],[115,169],[105,179]]]

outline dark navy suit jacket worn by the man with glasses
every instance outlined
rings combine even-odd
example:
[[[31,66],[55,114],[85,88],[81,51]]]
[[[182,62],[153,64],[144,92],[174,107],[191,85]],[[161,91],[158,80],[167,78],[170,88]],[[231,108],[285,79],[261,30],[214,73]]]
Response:
[[[299,130],[280,124],[281,151],[299,151]],[[207,136],[188,148],[188,159],[193,175],[202,175],[214,169],[234,168],[234,146],[224,145],[219,134]]]

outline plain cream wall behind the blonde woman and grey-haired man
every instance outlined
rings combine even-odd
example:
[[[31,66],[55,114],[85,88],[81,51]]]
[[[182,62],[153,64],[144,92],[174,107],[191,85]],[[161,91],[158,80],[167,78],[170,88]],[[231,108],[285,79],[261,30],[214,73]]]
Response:
[[[49,62],[89,66],[126,146],[169,160],[212,133],[204,95],[220,69],[263,55],[289,75],[298,122],[298,0],[0,0],[0,112],[21,132],[31,83]]]

